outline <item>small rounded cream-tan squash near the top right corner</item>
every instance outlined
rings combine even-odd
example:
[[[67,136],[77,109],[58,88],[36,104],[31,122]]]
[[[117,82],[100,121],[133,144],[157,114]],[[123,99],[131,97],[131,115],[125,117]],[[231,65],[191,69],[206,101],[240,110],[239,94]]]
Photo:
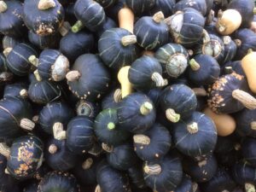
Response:
[[[221,35],[230,35],[241,26],[241,15],[235,9],[227,9],[218,13],[216,29]]]

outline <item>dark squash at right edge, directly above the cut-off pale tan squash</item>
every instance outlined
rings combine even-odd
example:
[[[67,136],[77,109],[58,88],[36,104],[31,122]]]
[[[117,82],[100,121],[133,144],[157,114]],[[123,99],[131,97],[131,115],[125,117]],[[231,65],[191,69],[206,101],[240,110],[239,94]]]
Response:
[[[238,29],[234,35],[233,39],[236,43],[236,60],[241,60],[249,49],[256,50],[256,34],[247,28]]]

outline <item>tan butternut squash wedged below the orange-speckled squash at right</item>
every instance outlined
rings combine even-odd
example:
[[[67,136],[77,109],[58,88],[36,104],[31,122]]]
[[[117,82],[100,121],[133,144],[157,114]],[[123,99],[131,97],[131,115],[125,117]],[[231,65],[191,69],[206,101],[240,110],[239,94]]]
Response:
[[[210,108],[205,108],[203,113],[210,117],[216,125],[218,136],[226,137],[236,130],[236,121],[229,114],[217,114]]]

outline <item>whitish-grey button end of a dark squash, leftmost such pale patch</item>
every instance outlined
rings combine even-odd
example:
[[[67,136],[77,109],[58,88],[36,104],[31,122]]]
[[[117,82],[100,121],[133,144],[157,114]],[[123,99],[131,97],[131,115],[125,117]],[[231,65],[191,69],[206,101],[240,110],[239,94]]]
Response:
[[[69,61],[66,56],[59,55],[55,60],[51,70],[51,78],[55,81],[61,81],[65,79],[67,72],[69,71]]]

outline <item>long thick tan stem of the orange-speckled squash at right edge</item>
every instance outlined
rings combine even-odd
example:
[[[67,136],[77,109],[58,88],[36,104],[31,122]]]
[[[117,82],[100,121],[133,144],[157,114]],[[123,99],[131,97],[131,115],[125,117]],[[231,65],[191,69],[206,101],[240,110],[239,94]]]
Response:
[[[256,109],[256,99],[243,90],[233,90],[232,96],[248,109]]]

